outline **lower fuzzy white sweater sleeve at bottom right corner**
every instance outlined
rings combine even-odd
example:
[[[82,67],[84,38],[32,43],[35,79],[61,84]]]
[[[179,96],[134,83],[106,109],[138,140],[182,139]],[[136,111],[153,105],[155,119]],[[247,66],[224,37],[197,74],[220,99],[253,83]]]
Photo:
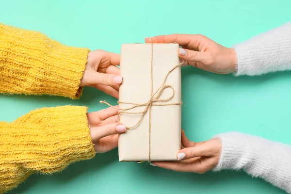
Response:
[[[238,132],[215,136],[222,140],[214,171],[243,169],[291,194],[291,146]]]

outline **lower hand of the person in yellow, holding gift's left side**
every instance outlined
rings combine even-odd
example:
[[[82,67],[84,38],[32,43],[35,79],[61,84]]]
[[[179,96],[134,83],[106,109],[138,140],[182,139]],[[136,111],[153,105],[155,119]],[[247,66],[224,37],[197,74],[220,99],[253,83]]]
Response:
[[[97,153],[108,152],[117,147],[118,134],[126,131],[126,127],[118,122],[118,109],[115,108],[87,113],[90,135]]]

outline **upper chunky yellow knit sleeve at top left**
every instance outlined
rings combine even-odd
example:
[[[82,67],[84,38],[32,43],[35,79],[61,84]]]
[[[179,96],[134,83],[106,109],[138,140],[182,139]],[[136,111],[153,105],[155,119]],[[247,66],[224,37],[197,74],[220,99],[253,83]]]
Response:
[[[0,24],[0,93],[79,98],[88,52]]]

